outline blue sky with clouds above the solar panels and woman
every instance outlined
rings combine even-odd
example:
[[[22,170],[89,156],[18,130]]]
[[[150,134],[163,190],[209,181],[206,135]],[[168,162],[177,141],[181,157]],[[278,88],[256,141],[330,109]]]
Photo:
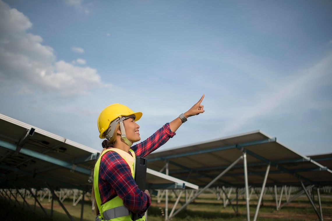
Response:
[[[262,130],[332,152],[331,1],[0,0],[0,113],[100,150],[112,103],[162,148]]]

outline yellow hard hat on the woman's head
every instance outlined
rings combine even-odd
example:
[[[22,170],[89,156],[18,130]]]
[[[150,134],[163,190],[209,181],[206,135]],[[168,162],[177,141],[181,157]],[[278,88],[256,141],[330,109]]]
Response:
[[[135,115],[135,121],[138,121],[142,117],[142,112],[133,112],[129,107],[122,104],[111,104],[106,107],[98,117],[98,130],[99,138],[104,139],[104,132],[107,131],[112,121],[118,119],[120,116]]]

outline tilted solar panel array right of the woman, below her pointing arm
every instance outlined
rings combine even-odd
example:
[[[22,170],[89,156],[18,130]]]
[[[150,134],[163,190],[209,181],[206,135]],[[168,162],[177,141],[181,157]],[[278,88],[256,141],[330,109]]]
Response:
[[[153,152],[148,156],[148,160],[149,167],[154,170],[162,168],[165,160],[168,160],[170,176],[204,187],[238,159],[243,150],[247,155],[248,182],[251,186],[261,187],[269,163],[271,168],[267,186],[299,186],[299,180],[307,185],[332,184],[332,171],[324,165],[331,163],[330,155],[319,161],[323,164],[321,165],[261,131]],[[243,168],[241,160],[215,182],[214,186],[243,187]]]

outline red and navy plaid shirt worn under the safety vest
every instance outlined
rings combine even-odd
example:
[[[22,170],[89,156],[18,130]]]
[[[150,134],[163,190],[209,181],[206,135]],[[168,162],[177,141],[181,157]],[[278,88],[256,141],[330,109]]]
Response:
[[[167,123],[131,149],[137,156],[145,157],[174,135]],[[137,214],[144,213],[151,204],[150,197],[138,188],[127,162],[114,151],[105,153],[100,160],[98,188],[102,204],[118,195],[124,205]]]

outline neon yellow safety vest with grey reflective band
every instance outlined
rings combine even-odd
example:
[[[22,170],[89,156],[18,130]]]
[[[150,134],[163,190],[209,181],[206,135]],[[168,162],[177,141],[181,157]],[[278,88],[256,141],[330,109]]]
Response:
[[[135,171],[134,171],[134,165],[135,165],[135,153],[132,149],[129,149],[129,151],[132,153],[130,155],[129,153],[118,149],[118,148],[109,148],[103,152],[102,155],[100,155],[99,159],[97,160],[97,163],[95,165],[95,172],[93,176],[93,186],[95,190],[95,197],[97,206],[99,208],[100,215],[96,217],[96,221],[129,221],[131,219],[131,212],[128,210],[127,207],[124,206],[123,200],[116,196],[113,199],[105,202],[103,205],[101,205],[101,199],[99,194],[99,188],[98,188],[98,177],[99,177],[99,166],[100,166],[100,159],[102,156],[108,152],[108,151],[114,151],[117,152],[129,165],[131,175],[133,178],[135,178]],[[136,219],[137,221],[145,221],[145,217]]]

